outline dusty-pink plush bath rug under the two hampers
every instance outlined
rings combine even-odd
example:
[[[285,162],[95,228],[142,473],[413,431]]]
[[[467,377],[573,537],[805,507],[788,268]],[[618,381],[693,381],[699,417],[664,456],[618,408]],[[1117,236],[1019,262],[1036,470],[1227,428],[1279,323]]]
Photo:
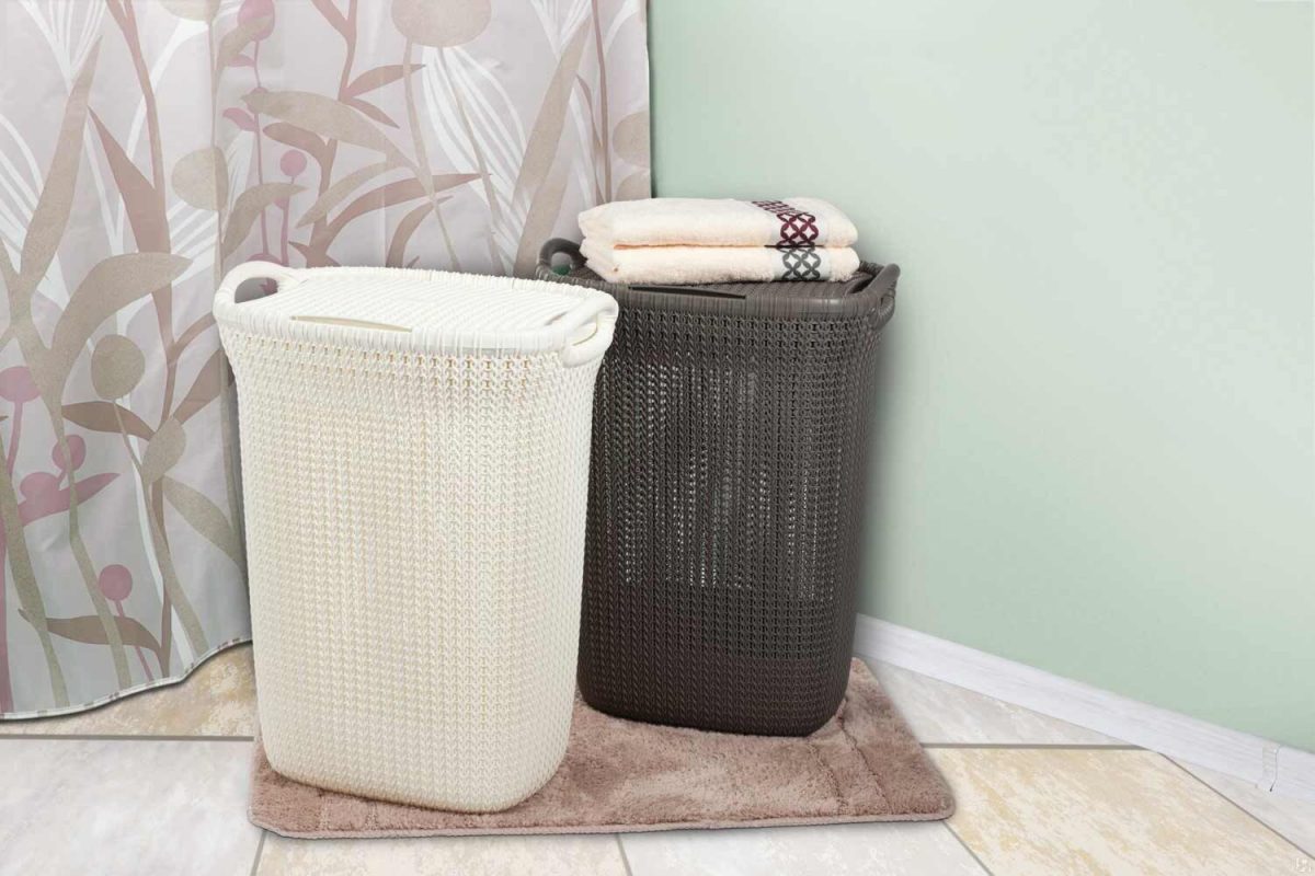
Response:
[[[576,700],[558,774],[512,809],[468,814],[323,791],[274,771],[259,741],[251,821],[284,837],[576,834],[934,821],[955,804],[859,661],[836,716],[806,738],[609,717]]]

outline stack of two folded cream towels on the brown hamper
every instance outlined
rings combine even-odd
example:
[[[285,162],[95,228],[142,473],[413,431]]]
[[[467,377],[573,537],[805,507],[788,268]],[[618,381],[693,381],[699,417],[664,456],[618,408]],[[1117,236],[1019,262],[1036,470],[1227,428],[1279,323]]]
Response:
[[[580,214],[580,252],[623,284],[844,281],[859,231],[818,198],[615,201]]]

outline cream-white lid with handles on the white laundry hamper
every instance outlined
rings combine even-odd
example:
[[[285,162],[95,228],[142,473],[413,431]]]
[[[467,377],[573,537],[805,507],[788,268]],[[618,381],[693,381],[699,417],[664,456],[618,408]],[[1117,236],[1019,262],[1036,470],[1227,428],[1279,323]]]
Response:
[[[277,293],[235,302],[268,278]],[[417,352],[542,352],[585,361],[606,349],[617,302],[604,292],[538,280],[404,268],[235,267],[214,318],[245,331],[329,344]]]

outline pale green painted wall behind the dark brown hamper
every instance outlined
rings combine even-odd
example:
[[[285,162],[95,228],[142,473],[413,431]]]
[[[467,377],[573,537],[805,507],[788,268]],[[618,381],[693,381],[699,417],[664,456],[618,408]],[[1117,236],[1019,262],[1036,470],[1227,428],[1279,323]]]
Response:
[[[652,3],[656,192],[905,269],[864,611],[1315,750],[1311,16]]]

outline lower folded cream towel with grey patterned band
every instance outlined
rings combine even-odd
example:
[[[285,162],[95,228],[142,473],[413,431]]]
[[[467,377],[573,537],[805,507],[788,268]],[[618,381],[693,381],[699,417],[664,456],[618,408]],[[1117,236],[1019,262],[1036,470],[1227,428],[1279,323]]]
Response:
[[[585,238],[580,252],[600,277],[625,284],[844,281],[859,269],[848,247],[611,247]]]

